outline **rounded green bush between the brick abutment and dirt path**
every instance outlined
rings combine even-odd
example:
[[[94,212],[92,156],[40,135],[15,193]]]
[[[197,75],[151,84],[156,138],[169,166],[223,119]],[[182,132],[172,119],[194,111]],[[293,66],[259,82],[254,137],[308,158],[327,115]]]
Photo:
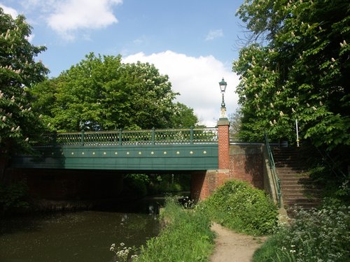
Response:
[[[214,221],[241,233],[264,235],[276,226],[276,206],[264,191],[247,182],[225,182],[200,206]]]

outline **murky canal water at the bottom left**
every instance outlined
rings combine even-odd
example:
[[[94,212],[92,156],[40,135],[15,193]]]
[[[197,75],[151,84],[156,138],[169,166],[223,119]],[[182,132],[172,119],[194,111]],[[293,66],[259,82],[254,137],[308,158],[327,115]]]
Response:
[[[159,229],[154,215],[111,211],[2,219],[0,262],[116,261],[112,243],[139,247]]]

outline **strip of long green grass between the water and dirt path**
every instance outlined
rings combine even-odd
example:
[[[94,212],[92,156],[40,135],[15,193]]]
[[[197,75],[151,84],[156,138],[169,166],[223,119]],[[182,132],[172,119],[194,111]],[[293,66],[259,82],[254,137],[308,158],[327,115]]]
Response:
[[[167,226],[141,247],[136,261],[209,261],[214,247],[210,221],[200,210],[184,210],[167,198],[163,212]]]

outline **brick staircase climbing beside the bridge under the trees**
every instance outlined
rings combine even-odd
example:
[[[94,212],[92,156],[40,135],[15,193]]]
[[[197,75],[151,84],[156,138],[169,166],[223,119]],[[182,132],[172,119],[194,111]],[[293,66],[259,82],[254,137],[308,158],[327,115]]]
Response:
[[[304,209],[315,208],[321,203],[320,190],[303,171],[299,150],[299,147],[272,148],[286,210],[295,205]]]

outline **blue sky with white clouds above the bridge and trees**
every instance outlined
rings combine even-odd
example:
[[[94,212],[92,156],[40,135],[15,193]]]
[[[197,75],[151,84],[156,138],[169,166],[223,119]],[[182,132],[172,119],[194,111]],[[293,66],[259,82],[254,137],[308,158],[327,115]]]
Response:
[[[176,100],[193,108],[201,124],[216,126],[222,78],[228,114],[237,109],[232,62],[244,35],[235,15],[243,1],[0,0],[0,6],[13,17],[25,15],[33,27],[29,41],[47,47],[37,59],[50,78],[90,52],[149,62],[169,76]]]

